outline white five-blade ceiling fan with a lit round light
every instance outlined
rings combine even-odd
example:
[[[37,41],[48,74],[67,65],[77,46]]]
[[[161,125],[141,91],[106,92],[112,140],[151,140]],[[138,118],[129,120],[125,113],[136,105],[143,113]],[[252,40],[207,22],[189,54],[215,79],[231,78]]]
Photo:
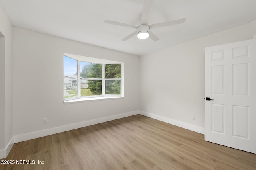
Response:
[[[152,2],[153,2],[153,0],[145,0],[144,1],[143,11],[142,11],[142,14],[141,14],[141,21],[140,21],[139,26],[130,25],[130,24],[127,24],[127,23],[116,22],[116,21],[110,21],[110,20],[105,20],[105,23],[137,29],[136,31],[134,31],[130,35],[124,37],[122,39],[122,41],[126,41],[126,40],[130,39],[131,37],[133,37],[135,35],[137,35],[137,37],[139,39],[146,39],[146,38],[150,37],[154,41],[157,41],[157,40],[159,40],[159,38],[151,31],[151,29],[155,29],[155,28],[159,28],[159,27],[166,27],[166,26],[170,26],[170,25],[176,25],[176,24],[180,24],[180,23],[185,22],[186,18],[181,18],[181,19],[178,19],[178,20],[171,20],[171,21],[166,21],[166,22],[161,22],[161,23],[155,23],[155,24],[148,25],[149,13],[150,13],[150,9],[151,9],[151,6],[152,6]]]

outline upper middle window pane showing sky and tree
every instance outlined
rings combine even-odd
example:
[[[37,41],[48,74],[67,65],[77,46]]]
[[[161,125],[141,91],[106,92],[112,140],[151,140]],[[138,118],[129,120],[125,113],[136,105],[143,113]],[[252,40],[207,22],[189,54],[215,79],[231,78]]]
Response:
[[[101,78],[101,64],[80,61],[80,77]]]

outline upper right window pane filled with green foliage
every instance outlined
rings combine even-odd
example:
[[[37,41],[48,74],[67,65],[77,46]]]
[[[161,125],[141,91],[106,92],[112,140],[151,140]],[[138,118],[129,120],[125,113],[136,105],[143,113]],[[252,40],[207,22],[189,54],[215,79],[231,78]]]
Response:
[[[121,64],[106,64],[106,78],[121,78]]]

